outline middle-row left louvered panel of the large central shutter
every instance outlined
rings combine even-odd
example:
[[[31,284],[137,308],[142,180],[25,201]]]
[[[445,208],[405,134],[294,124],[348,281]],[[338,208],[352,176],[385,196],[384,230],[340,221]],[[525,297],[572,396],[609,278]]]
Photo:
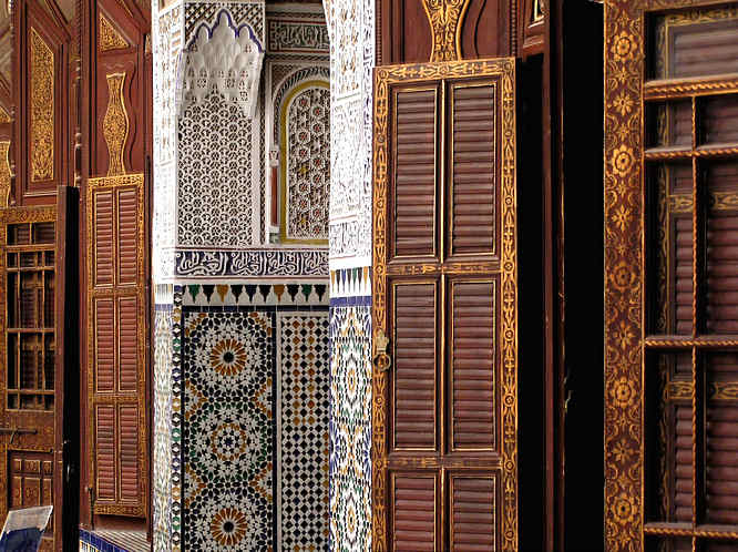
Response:
[[[435,449],[437,286],[394,287],[394,447]]]

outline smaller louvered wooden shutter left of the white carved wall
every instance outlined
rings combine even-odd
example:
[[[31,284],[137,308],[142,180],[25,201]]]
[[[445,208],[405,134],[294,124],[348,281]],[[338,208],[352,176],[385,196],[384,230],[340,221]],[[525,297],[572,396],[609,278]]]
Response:
[[[94,512],[145,517],[143,175],[88,186],[89,412]]]

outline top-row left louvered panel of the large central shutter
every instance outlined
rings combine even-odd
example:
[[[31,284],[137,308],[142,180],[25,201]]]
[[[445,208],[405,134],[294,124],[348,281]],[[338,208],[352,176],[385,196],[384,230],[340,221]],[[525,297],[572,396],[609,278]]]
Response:
[[[393,251],[434,254],[438,91],[397,93],[394,133]]]

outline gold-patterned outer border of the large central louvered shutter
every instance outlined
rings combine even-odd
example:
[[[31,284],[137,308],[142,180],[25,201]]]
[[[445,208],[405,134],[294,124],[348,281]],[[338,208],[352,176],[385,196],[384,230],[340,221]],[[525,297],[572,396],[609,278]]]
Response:
[[[432,79],[500,76],[502,102],[502,528],[499,535],[503,551],[516,551],[517,523],[517,201],[515,142],[515,60],[499,58],[430,64],[380,67],[375,70],[375,150],[373,150],[373,339],[387,334],[388,276],[388,193],[389,193],[389,104],[390,85]],[[372,368],[372,549],[389,548],[387,500],[388,466],[388,375]]]

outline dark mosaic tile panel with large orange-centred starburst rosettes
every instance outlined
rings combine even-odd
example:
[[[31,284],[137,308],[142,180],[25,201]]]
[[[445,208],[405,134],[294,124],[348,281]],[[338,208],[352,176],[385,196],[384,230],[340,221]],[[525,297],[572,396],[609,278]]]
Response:
[[[274,315],[183,323],[185,550],[273,550]]]

